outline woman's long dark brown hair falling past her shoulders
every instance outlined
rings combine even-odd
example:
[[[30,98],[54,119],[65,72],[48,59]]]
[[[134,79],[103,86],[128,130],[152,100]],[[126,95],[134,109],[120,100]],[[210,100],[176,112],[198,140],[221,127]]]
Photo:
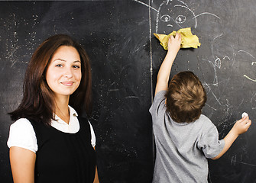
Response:
[[[78,114],[83,111],[83,108],[85,108],[87,115],[91,113],[92,77],[89,57],[83,47],[71,37],[58,34],[44,40],[31,57],[24,78],[23,98],[18,108],[9,113],[11,120],[25,117],[28,120],[50,125],[56,106],[53,92],[47,85],[45,73],[50,59],[61,46],[76,48],[81,59],[82,79],[79,87],[70,95],[69,104]]]

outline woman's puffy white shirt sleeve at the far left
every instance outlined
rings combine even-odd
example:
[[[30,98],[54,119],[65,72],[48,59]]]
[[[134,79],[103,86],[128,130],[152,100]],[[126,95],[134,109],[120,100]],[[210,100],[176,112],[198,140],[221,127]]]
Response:
[[[21,118],[11,124],[7,146],[18,146],[24,149],[37,152],[37,137],[31,122]]]

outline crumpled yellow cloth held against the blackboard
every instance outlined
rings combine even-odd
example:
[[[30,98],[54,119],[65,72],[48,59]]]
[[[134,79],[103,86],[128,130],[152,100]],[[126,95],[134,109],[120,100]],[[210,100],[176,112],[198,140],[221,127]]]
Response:
[[[189,48],[189,47],[197,48],[197,47],[200,47],[201,43],[199,43],[198,37],[191,33],[191,28],[190,27],[183,28],[183,29],[180,29],[178,31],[173,31],[169,35],[154,34],[154,36],[157,37],[158,40],[160,40],[160,45],[162,45],[164,47],[164,50],[168,50],[169,37],[172,36],[172,35],[175,37],[176,33],[181,34],[181,45],[180,45],[181,48]]]

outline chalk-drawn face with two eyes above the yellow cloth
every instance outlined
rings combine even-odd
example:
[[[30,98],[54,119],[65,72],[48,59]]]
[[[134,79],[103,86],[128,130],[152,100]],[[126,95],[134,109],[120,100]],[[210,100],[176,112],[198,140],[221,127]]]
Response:
[[[195,17],[196,14],[186,3],[179,0],[164,1],[158,8],[156,32],[170,34],[172,30],[196,27],[197,20]]]

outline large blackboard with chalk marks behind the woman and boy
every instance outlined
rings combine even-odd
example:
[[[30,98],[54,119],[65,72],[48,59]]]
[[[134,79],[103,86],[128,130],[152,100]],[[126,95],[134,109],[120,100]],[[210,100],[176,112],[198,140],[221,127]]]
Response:
[[[199,49],[180,50],[171,76],[199,76],[208,95],[203,114],[223,138],[242,112],[256,117],[255,11],[254,0],[0,2],[0,180],[11,182],[7,113],[18,107],[28,61],[47,37],[69,34],[91,59],[100,181],[151,182],[148,109],[166,54],[153,33],[191,27],[199,37]],[[209,182],[255,182],[255,132],[252,124],[221,159],[209,160]]]

